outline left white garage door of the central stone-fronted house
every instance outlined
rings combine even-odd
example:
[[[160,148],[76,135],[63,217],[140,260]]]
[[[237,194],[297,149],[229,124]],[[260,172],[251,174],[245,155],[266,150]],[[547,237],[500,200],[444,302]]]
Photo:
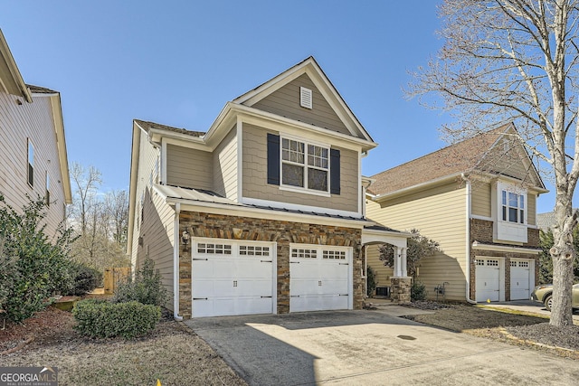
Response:
[[[275,243],[204,239],[192,249],[193,317],[275,313]]]

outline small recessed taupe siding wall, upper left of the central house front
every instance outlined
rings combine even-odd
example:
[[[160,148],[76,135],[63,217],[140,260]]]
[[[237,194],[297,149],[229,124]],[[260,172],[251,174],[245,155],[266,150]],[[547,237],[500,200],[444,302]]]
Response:
[[[211,153],[183,146],[167,145],[166,184],[212,190]]]

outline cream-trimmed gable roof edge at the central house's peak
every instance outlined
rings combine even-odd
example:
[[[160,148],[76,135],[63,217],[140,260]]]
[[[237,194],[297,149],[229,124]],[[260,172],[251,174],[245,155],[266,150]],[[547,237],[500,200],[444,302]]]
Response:
[[[313,56],[309,56],[304,61],[290,67],[288,70],[281,72],[279,75],[261,83],[255,89],[252,89],[241,96],[233,99],[233,103],[243,106],[252,107],[261,99],[271,95],[274,91],[284,87],[290,81],[296,80],[299,76],[307,74],[312,80],[319,92],[327,100],[327,103],[334,109],[337,116],[344,123],[354,137],[361,137],[366,141],[374,142],[360,121],[356,118],[352,110],[347,106],[346,101],[337,91],[336,87],[327,78],[326,73],[319,67],[318,61]]]

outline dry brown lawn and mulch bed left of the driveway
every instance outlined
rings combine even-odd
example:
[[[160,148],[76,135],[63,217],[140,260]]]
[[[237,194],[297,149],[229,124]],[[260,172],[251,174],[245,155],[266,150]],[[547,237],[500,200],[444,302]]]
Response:
[[[195,333],[169,318],[132,341],[90,339],[73,329],[71,313],[49,307],[0,331],[2,366],[53,366],[60,385],[244,385]],[[1,327],[1,325],[0,325]],[[14,349],[33,336],[33,341]]]

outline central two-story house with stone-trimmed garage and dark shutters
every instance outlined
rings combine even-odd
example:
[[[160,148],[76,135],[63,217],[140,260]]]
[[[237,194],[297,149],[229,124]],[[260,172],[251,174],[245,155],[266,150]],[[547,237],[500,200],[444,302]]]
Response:
[[[128,254],[153,259],[177,319],[361,308],[376,146],[314,58],[227,102],[206,132],[134,120]],[[385,240],[385,241],[384,241]]]

